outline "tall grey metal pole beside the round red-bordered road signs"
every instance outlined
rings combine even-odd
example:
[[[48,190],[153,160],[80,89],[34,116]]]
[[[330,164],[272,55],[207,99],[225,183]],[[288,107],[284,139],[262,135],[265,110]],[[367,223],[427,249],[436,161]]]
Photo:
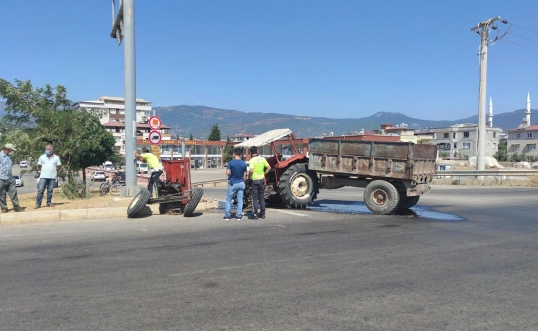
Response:
[[[114,12],[114,0],[112,0]],[[137,186],[137,168],[133,152],[137,148],[137,66],[135,56],[135,0],[120,0],[118,15],[112,21],[110,37],[116,38],[118,46],[123,43],[123,75],[125,84],[125,170],[126,186],[122,197],[133,197]]]

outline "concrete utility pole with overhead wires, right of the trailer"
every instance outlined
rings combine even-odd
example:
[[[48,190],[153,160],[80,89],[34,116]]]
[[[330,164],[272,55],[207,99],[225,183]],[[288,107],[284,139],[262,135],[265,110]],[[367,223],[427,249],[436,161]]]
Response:
[[[495,17],[487,21],[478,23],[477,26],[471,28],[471,31],[476,31],[480,34],[480,88],[478,95],[478,146],[477,146],[477,170],[484,170],[486,163],[486,85],[488,77],[488,37],[493,22],[501,19]],[[483,176],[479,176],[483,179]]]

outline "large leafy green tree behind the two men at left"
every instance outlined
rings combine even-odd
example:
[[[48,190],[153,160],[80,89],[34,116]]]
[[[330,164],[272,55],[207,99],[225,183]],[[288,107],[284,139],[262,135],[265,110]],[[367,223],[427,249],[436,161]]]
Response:
[[[0,137],[1,143],[17,144],[14,161],[37,160],[47,144],[54,146],[70,176],[90,165],[119,160],[114,137],[99,121],[102,112],[70,108],[67,90],[60,85],[34,89],[30,81],[15,83],[0,79],[0,97],[6,99],[3,124],[26,126],[6,130]],[[82,173],[86,181],[86,172]]]

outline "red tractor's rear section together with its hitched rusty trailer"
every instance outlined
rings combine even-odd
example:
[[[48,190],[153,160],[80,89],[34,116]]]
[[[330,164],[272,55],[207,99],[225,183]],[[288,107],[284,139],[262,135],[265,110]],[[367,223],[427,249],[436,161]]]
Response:
[[[234,147],[270,144],[272,170],[266,175],[265,198],[269,203],[306,208],[319,188],[343,186],[366,188],[364,202],[375,214],[390,214],[396,208],[411,208],[421,194],[430,191],[436,174],[437,146],[386,141],[310,139],[308,157],[299,153],[290,129],[270,130]],[[284,159],[275,141],[286,139],[295,154]],[[252,199],[247,190],[243,208]]]

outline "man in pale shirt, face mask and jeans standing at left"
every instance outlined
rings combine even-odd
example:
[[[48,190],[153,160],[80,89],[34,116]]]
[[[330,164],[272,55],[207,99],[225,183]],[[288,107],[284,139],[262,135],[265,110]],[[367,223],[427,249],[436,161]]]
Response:
[[[56,183],[60,169],[60,158],[58,155],[54,154],[54,148],[51,145],[45,146],[45,154],[41,155],[39,160],[37,160],[37,170],[39,170],[41,174],[39,174],[37,199],[35,201],[34,209],[41,208],[41,201],[43,201],[45,188],[47,188],[47,207],[54,207],[52,204],[52,191],[54,190],[54,184]]]

